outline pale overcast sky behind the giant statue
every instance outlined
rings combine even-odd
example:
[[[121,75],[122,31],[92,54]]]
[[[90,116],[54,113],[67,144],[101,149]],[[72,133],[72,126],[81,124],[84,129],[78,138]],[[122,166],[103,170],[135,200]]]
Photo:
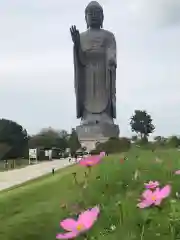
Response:
[[[71,24],[86,28],[87,0],[0,0],[0,117],[34,134],[76,120]],[[100,0],[118,47],[117,119],[146,109],[155,135],[180,134],[180,1]]]

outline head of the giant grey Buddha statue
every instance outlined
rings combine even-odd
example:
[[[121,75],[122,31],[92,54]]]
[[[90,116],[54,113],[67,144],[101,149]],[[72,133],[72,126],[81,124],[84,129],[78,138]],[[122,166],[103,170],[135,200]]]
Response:
[[[85,19],[87,28],[101,28],[103,25],[104,15],[103,9],[99,3],[92,1],[85,10]]]

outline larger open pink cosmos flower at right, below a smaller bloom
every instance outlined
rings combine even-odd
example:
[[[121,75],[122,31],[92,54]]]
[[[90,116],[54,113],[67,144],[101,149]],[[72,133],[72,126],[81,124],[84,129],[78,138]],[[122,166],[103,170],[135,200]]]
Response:
[[[139,208],[146,208],[151,205],[160,205],[162,200],[169,196],[171,192],[171,186],[166,185],[165,187],[159,189],[156,188],[156,190],[145,190],[142,194],[142,200],[140,203],[137,204]]]

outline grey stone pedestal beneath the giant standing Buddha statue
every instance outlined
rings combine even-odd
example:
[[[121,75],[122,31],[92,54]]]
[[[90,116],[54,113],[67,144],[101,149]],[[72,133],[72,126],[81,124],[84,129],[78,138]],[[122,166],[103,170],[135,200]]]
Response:
[[[106,142],[111,137],[118,137],[119,126],[109,123],[84,124],[77,126],[76,132],[81,146],[91,151],[97,143]]]

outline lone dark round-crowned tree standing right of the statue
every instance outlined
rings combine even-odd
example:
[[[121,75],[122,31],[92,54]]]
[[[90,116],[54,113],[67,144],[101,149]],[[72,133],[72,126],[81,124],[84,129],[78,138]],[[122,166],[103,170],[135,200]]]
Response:
[[[133,132],[140,134],[141,139],[147,139],[155,129],[151,116],[146,111],[141,110],[135,110],[130,119],[130,125]]]

